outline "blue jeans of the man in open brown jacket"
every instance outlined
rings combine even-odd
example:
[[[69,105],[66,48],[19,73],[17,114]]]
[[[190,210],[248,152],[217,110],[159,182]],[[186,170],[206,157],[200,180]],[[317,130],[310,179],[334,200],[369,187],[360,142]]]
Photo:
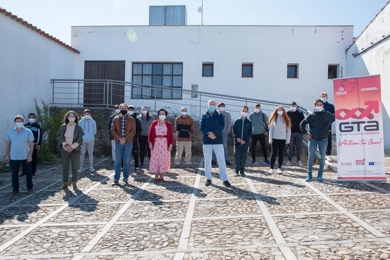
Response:
[[[129,170],[130,170],[130,157],[133,149],[133,142],[126,142],[121,145],[119,142],[115,142],[115,175],[114,180],[119,181],[120,178],[120,167],[122,164],[122,156],[123,156],[123,180],[127,180],[129,178]]]

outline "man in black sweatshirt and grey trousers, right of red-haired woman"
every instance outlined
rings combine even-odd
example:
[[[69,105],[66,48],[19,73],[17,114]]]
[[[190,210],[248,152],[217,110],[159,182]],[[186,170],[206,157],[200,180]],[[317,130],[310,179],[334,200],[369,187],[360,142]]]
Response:
[[[301,133],[301,129],[299,128],[299,124],[305,119],[302,111],[297,110],[296,102],[292,101],[290,103],[290,111],[287,111],[287,115],[291,119],[291,136],[290,143],[287,145],[287,154],[289,156],[289,161],[286,163],[286,166],[292,165],[292,153],[295,149],[296,155],[296,165],[302,166],[301,163],[301,148],[302,148],[302,140],[303,134]]]

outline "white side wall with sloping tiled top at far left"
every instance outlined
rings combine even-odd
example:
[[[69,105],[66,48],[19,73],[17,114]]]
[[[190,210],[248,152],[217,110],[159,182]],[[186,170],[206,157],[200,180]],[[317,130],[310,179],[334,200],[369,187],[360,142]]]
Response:
[[[50,101],[52,76],[65,74],[74,78],[74,71],[68,71],[75,67],[77,54],[2,13],[0,35],[2,160],[6,134],[15,127],[14,117],[27,117],[30,112],[35,112],[34,98],[39,104],[41,99],[47,103]]]

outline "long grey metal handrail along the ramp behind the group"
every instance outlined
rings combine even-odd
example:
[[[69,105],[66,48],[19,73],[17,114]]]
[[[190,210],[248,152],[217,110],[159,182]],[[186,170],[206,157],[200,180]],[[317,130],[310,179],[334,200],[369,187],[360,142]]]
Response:
[[[290,104],[288,103],[282,103],[277,101],[270,101],[270,100],[261,100],[261,99],[255,99],[255,98],[249,98],[249,97],[239,97],[239,96],[233,96],[233,95],[226,95],[226,94],[220,94],[220,93],[210,93],[210,92],[201,92],[201,91],[193,91],[193,90],[185,90],[181,88],[172,88],[172,87],[162,87],[162,86],[154,86],[154,85],[145,85],[145,84],[139,84],[139,83],[133,83],[133,82],[127,82],[127,81],[119,81],[119,80],[111,80],[111,79],[51,79],[52,84],[52,100],[50,101],[51,106],[84,106],[84,84],[85,83],[101,83],[103,84],[103,91],[101,94],[103,97],[99,98],[103,100],[103,103],[96,104],[96,108],[106,107],[110,108],[115,104],[112,104],[113,98],[115,96],[124,96],[124,98],[129,98],[131,100],[153,100],[154,101],[154,108],[151,111],[157,110],[157,102],[163,102],[164,107],[169,104],[182,104],[183,106],[191,105],[197,107],[197,114],[192,114],[193,117],[199,117],[201,114],[206,111],[202,111],[202,103],[206,103],[209,99],[220,99],[223,100],[226,106],[232,106],[241,108],[242,104],[245,102],[245,105],[248,106],[248,103],[261,103],[262,104],[262,110],[263,111],[273,111],[270,109],[265,108],[265,106],[283,106],[283,107],[290,107]],[[65,87],[61,86],[62,84],[66,84]],[[69,87],[69,84],[75,84],[76,87]],[[122,86],[129,86],[132,87],[130,90],[120,90],[124,93],[124,95],[117,95],[113,93],[113,85],[122,85]],[[147,93],[147,95],[150,95],[151,98],[138,98],[138,97],[132,97],[133,94],[133,87],[141,88],[140,93],[144,93],[144,89],[153,90],[154,92]],[[77,91],[76,91],[77,88]],[[74,92],[71,92],[71,90],[74,89]],[[90,88],[94,89],[94,88]],[[101,89],[101,88],[98,88]],[[67,91],[64,91],[67,90]],[[111,95],[110,95],[111,90]],[[169,91],[169,92],[179,92],[181,95],[181,98],[162,98],[162,91]],[[156,94],[157,91],[161,91],[161,94]],[[191,98],[183,97],[183,94],[190,95]],[[77,95],[77,96],[76,96]],[[81,97],[80,97],[81,95]],[[161,95],[161,98],[158,98],[157,95]],[[195,96],[196,97],[192,97]],[[187,101],[188,100],[188,101]],[[199,100],[199,102],[195,105],[195,101]],[[229,100],[229,103],[228,101]],[[60,102],[59,102],[60,101]],[[109,102],[110,101],[110,102]],[[192,104],[189,104],[192,103]],[[237,105],[237,104],[240,105]],[[86,104],[88,108],[95,108],[94,104]],[[206,108],[206,105],[204,106]],[[297,106],[297,109],[299,111],[302,111],[306,115],[311,113],[311,111],[308,111],[307,109]],[[175,112],[173,112],[175,113]]]

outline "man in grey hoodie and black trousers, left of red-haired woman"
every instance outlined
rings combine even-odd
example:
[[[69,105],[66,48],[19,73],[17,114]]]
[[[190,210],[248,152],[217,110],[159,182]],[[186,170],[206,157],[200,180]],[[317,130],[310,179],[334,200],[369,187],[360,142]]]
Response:
[[[256,143],[257,140],[260,142],[261,148],[263,149],[264,164],[270,165],[268,161],[267,143],[265,141],[265,135],[268,134],[268,116],[261,111],[260,104],[254,105],[254,111],[249,115],[249,120],[253,124],[253,135],[252,135],[252,165],[256,163]]]

